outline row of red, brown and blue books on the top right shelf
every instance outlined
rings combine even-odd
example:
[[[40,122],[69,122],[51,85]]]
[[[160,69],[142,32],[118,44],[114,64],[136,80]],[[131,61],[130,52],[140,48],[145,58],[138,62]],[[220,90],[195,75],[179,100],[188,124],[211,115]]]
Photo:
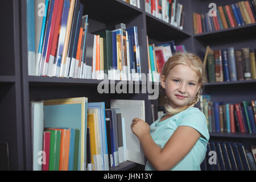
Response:
[[[194,33],[201,34],[255,23],[255,3],[255,0],[240,1],[232,5],[218,6],[216,11],[210,13],[193,13]]]

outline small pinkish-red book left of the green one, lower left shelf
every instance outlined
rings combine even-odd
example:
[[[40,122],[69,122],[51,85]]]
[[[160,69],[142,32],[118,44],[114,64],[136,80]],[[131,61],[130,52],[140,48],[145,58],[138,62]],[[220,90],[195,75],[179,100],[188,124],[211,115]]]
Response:
[[[44,131],[44,142],[43,142],[43,171],[49,171],[49,148],[51,142],[51,132]]]

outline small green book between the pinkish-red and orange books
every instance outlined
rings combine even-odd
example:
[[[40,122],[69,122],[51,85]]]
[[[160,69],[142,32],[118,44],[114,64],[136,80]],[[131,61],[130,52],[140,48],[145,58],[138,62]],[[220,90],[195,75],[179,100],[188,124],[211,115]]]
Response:
[[[50,151],[49,151],[49,171],[59,171],[61,131],[57,131],[57,130],[46,130],[46,131],[51,132]]]

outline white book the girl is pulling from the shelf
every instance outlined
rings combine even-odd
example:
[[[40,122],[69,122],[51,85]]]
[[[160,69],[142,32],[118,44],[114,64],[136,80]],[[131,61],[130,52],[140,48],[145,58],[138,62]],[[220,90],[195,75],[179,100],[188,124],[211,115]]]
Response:
[[[139,139],[131,131],[131,123],[134,118],[141,118],[145,121],[145,106],[144,101],[138,100],[111,100],[111,108],[121,110],[122,118],[125,118],[125,135],[127,160],[138,164],[145,164],[144,153],[139,143]]]

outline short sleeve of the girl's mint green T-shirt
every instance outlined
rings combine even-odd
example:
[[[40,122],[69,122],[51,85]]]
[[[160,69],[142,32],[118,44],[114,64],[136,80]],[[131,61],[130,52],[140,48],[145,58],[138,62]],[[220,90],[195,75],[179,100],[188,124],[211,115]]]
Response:
[[[203,135],[207,141],[210,138],[205,115],[195,107],[193,107],[193,109],[189,109],[187,112],[181,115],[177,126],[193,127],[193,129],[199,131],[199,133]]]

